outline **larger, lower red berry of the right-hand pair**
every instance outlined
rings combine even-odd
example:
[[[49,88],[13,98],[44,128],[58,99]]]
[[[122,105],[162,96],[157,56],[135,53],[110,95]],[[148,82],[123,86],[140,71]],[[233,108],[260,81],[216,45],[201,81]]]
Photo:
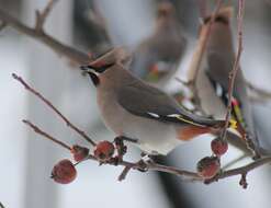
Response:
[[[204,178],[212,178],[221,169],[221,163],[216,157],[205,157],[196,164],[197,174]]]

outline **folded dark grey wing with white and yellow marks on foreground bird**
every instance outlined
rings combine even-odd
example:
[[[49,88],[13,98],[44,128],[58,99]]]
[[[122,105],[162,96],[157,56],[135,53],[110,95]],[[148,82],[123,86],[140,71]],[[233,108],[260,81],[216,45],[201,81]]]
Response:
[[[137,116],[202,127],[224,124],[223,120],[208,119],[187,112],[165,92],[140,81],[123,86],[117,94],[121,106]]]

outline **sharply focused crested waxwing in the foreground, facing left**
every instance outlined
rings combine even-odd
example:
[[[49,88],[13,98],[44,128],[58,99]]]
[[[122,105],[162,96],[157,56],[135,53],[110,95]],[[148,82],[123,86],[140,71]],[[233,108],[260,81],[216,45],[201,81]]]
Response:
[[[81,69],[97,88],[105,125],[118,137],[134,139],[147,154],[167,154],[179,143],[202,134],[218,132],[224,120],[183,109],[171,96],[135,77],[125,63],[129,56],[113,49]]]

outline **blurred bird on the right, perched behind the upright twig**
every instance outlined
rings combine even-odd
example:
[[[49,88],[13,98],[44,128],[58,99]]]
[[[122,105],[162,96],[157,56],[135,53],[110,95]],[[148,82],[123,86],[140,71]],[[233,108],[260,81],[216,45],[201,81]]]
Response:
[[[230,18],[233,8],[225,7],[217,13],[212,27],[203,60],[195,77],[195,91],[201,109],[205,115],[221,119],[226,115],[228,102],[228,76],[235,61],[235,49],[233,44]],[[211,16],[205,18],[201,25],[200,37],[206,34]],[[201,44],[201,43],[200,43]],[[199,56],[195,54],[195,56]],[[191,71],[189,71],[191,73]],[[190,77],[190,74],[189,74]],[[232,101],[233,117],[237,120],[237,130],[244,139],[248,139],[250,148],[258,152],[258,139],[253,125],[251,106],[247,95],[247,85],[242,71],[238,69]]]

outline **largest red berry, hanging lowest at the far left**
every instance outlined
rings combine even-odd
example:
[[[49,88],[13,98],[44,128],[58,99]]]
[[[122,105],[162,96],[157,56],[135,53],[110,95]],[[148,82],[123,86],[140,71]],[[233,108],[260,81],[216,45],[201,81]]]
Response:
[[[52,171],[52,178],[59,184],[69,184],[77,176],[75,165],[67,159],[59,161]]]

